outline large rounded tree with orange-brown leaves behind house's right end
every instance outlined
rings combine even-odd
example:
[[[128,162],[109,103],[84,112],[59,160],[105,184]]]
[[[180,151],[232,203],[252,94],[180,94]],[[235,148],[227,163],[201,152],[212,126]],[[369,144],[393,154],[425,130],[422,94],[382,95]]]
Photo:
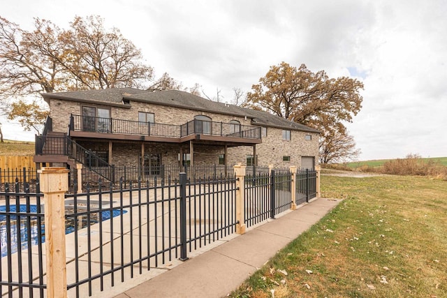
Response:
[[[244,106],[317,128],[323,132],[320,142],[324,150],[344,152],[339,158],[355,155],[355,150],[342,150],[331,144],[339,137],[349,137],[342,121],[351,122],[360,111],[362,82],[350,77],[329,78],[323,70],[313,73],[305,64],[295,68],[282,62],[270,66],[265,77],[251,89]],[[324,160],[330,162],[331,156],[338,155],[336,152],[326,154]]]

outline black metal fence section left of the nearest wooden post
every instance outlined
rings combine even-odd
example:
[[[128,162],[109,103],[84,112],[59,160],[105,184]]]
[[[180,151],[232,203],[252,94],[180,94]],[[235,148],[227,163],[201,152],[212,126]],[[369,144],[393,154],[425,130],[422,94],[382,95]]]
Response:
[[[27,183],[18,182],[7,183],[0,191],[1,297],[44,295],[42,197],[38,181],[35,193],[31,193]]]

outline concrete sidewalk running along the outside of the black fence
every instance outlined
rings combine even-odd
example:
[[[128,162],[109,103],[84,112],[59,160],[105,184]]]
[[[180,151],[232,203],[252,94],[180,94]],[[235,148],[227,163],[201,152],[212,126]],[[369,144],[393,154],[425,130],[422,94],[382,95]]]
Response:
[[[224,297],[339,202],[319,198],[304,204],[115,298]]]

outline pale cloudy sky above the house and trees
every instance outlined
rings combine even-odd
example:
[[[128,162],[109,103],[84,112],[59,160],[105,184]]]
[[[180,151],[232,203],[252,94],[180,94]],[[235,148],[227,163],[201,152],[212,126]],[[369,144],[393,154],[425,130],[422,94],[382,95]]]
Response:
[[[286,61],[365,84],[348,124],[360,160],[447,156],[447,1],[15,0],[0,15],[33,28],[33,18],[68,27],[101,15],[142,50],[156,75],[168,72],[210,96],[250,91]],[[3,135],[34,140],[5,119]]]

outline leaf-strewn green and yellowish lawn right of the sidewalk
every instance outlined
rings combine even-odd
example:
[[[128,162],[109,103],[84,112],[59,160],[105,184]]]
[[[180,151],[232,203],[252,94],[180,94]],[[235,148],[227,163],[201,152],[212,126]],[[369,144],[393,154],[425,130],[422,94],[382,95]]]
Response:
[[[447,297],[446,181],[323,176],[321,189],[344,201],[230,297]]]

